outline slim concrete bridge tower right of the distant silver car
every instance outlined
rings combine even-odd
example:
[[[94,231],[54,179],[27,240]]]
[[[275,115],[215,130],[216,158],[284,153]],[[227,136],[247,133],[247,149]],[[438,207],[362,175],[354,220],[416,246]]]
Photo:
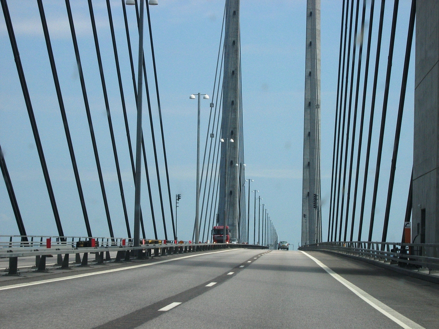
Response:
[[[322,240],[320,211],[320,0],[306,1],[302,245]]]

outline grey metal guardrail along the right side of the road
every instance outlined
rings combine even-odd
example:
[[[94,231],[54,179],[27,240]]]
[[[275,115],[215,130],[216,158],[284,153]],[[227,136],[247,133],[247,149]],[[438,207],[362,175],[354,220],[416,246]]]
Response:
[[[329,250],[408,268],[426,268],[429,272],[439,271],[438,243],[321,242],[302,246],[299,250]]]

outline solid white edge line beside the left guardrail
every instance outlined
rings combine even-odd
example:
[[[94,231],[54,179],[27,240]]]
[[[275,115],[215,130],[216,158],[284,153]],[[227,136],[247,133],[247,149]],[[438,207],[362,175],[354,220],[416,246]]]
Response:
[[[56,282],[56,281],[64,281],[64,280],[70,280],[70,279],[77,279],[77,278],[83,278],[85,276],[91,276],[91,275],[125,271],[125,270],[129,270],[129,269],[133,269],[133,268],[140,268],[140,267],[144,267],[144,266],[163,264],[163,263],[167,263],[168,261],[177,261],[179,259],[190,258],[190,257],[195,257],[195,256],[223,253],[223,252],[231,251],[231,250],[244,250],[244,249],[228,249],[228,250],[212,251],[210,253],[195,254],[195,255],[189,255],[189,256],[184,256],[184,257],[173,258],[173,259],[166,259],[164,261],[156,261],[154,263],[133,265],[133,266],[127,266],[127,267],[122,267],[122,268],[113,268],[110,270],[104,270],[104,271],[98,271],[98,272],[92,272],[92,273],[76,274],[76,275],[64,276],[62,278],[46,279],[46,280],[40,280],[40,281],[31,281],[28,283],[18,283],[18,284],[13,284],[10,286],[2,286],[2,287],[0,287],[0,290],[8,290],[8,289],[14,289],[14,288],[20,288],[20,287],[26,287],[26,286],[35,286],[37,284],[50,283],[50,282]]]

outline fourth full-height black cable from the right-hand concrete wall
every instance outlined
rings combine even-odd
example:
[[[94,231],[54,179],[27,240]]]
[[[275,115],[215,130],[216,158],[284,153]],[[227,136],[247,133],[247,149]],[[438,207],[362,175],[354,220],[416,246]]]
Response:
[[[369,75],[369,61],[370,61],[370,55],[371,55],[372,27],[373,27],[373,21],[374,21],[374,4],[375,4],[375,0],[372,0],[371,1],[371,9],[370,9],[370,17],[369,17],[369,33],[368,33],[368,37],[367,37],[366,65],[364,67],[363,102],[361,104],[360,132],[359,132],[359,137],[358,137],[358,150],[357,150],[357,161],[356,161],[354,199],[353,199],[353,204],[352,204],[352,220],[351,220],[350,241],[353,240],[353,231],[354,231],[355,214],[356,214],[356,198],[357,198],[357,192],[358,192],[358,177],[360,175],[361,145],[363,142],[364,111],[365,111],[365,107],[366,107],[367,78]]]

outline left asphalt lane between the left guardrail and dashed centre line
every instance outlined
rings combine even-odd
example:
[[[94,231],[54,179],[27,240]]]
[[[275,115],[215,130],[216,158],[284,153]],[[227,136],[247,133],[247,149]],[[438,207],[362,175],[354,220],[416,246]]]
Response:
[[[194,257],[119,272],[1,290],[0,327],[94,328],[204,283],[260,251],[232,249],[215,253],[184,254],[181,257]],[[160,260],[172,258],[162,257]],[[142,263],[147,264],[148,261],[133,265]],[[102,267],[96,269],[101,270]],[[50,277],[51,275],[47,275],[39,278]],[[13,284],[16,283],[19,281],[14,280]]]

